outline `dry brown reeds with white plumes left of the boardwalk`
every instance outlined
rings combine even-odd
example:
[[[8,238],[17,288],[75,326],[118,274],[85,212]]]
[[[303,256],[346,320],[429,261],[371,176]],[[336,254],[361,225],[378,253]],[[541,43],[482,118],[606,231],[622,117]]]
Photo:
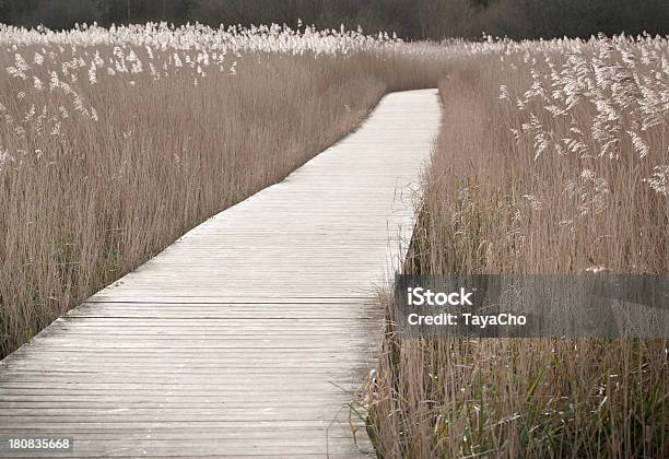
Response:
[[[0,44],[0,356],[439,73],[309,30],[3,28]]]

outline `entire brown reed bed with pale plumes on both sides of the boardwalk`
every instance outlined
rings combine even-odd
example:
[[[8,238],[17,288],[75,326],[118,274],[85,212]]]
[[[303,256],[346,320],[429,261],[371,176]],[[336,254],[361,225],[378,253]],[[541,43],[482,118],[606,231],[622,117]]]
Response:
[[[437,82],[404,271],[666,274],[667,45],[0,26],[0,355],[385,92]],[[669,455],[666,341],[401,339],[390,301],[365,400],[382,457]]]

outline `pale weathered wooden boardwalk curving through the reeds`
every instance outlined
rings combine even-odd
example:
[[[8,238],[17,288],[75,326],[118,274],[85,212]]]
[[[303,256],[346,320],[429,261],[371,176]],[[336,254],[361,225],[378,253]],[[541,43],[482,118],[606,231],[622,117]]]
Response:
[[[364,456],[348,403],[439,118],[436,90],[387,95],[356,132],[56,320],[1,363],[0,437],[72,437],[80,457]]]

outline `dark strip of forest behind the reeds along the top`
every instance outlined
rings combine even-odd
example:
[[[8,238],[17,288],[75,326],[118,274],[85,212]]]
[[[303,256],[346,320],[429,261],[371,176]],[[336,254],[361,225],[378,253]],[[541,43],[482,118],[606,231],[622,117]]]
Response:
[[[0,0],[0,23],[69,28],[164,20],[362,26],[408,39],[669,33],[669,0]]]

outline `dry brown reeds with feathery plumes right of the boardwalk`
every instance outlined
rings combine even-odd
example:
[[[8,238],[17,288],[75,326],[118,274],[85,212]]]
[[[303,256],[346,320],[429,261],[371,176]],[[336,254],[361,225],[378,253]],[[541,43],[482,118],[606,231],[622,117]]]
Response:
[[[669,272],[666,39],[455,44],[412,273]],[[383,457],[667,457],[666,340],[401,339]]]

